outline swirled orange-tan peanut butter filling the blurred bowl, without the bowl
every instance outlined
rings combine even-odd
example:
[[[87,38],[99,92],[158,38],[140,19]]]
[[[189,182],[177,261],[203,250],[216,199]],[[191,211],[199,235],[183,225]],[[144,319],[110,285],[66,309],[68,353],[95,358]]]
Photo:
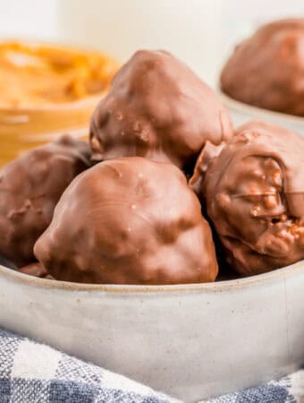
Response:
[[[0,43],[0,107],[40,107],[95,96],[116,71],[97,52],[21,42]]]

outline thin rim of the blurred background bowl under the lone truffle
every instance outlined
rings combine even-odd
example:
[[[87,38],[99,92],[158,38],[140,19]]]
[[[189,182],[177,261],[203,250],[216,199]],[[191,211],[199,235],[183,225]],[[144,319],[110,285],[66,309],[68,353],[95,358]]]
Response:
[[[263,116],[268,116],[281,121],[285,120],[286,122],[289,122],[291,124],[297,124],[304,127],[304,117],[283,114],[282,112],[276,112],[274,110],[265,109],[263,107],[255,107],[239,100],[232,99],[229,95],[224,93],[224,91],[221,90],[219,86],[217,87],[217,93],[222,100],[224,106],[228,107],[229,109],[233,109],[235,111],[246,113],[250,116],[257,116],[260,118],[263,118]]]

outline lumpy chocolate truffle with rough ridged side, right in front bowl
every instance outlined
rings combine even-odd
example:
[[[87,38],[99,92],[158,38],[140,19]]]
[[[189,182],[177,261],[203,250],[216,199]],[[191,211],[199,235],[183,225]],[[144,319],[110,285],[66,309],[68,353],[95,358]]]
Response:
[[[250,122],[208,168],[200,191],[227,260],[241,275],[304,258],[303,167],[299,135]]]

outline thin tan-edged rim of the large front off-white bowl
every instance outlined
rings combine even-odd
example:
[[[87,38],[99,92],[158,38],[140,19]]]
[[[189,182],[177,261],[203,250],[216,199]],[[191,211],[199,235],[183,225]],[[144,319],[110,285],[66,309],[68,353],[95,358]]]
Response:
[[[197,284],[177,284],[177,285],[118,285],[118,284],[86,284],[74,283],[69,281],[58,281],[54,279],[39,279],[16,270],[9,269],[0,265],[0,278],[16,281],[31,287],[52,288],[56,290],[67,291],[93,291],[103,292],[108,294],[167,294],[176,291],[200,291],[200,292],[223,292],[229,291],[232,288],[250,287],[272,282],[274,279],[285,279],[288,276],[294,275],[298,270],[304,270],[304,260],[283,267],[268,271],[256,276],[250,276],[242,279],[223,280],[213,283],[197,283]]]

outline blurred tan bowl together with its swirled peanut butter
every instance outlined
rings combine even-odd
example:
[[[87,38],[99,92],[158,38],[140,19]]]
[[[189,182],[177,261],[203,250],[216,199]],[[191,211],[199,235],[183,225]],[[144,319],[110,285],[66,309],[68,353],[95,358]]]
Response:
[[[60,133],[86,134],[117,68],[98,52],[0,42],[0,166]]]

